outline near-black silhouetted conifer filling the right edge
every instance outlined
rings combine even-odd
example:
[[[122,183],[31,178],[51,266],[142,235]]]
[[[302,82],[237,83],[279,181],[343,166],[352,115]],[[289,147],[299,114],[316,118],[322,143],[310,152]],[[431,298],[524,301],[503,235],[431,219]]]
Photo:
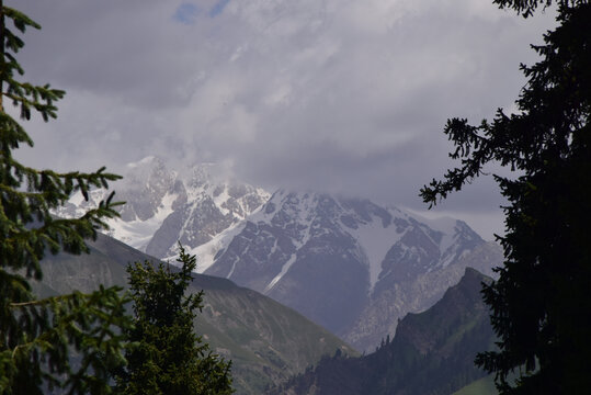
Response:
[[[550,0],[495,1],[523,16]],[[521,66],[529,78],[495,120],[447,122],[462,166],[421,190],[431,205],[495,161],[518,171],[495,176],[509,205],[504,266],[485,285],[499,351],[477,364],[496,373],[502,394],[581,394],[591,388],[591,4],[557,1],[559,25],[533,46],[542,59]],[[512,383],[511,372],[519,379]]]

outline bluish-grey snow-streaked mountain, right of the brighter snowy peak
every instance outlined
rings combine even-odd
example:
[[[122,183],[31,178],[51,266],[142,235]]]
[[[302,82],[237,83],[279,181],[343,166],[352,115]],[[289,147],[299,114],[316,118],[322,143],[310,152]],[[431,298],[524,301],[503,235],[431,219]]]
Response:
[[[462,221],[428,221],[368,200],[279,191],[205,273],[264,293],[365,348],[374,334],[360,326],[360,317],[380,314],[388,323],[383,327],[395,328],[398,318],[430,307],[456,283],[465,266],[478,261],[467,258],[484,245]],[[421,289],[425,279],[439,283]],[[412,294],[400,296],[400,290]],[[384,307],[379,313],[376,303]]]

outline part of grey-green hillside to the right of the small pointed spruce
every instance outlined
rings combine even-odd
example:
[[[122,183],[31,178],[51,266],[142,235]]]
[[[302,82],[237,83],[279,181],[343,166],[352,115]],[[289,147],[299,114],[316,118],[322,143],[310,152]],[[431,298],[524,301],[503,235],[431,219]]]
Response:
[[[299,313],[236,285],[231,290],[206,289],[205,308],[196,323],[218,352],[224,349],[231,356],[239,393],[262,394],[266,386],[303,372],[336,350],[357,354]]]

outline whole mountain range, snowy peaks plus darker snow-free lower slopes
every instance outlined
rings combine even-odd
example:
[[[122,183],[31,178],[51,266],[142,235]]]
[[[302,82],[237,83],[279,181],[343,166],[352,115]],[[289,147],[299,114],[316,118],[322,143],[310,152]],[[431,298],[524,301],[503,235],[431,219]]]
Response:
[[[213,163],[175,171],[148,157],[129,163],[125,179],[117,199],[127,203],[109,234],[172,263],[179,240],[197,255],[197,271],[206,274],[195,274],[192,287],[206,295],[197,330],[234,361],[238,393],[274,387],[344,394],[326,384],[340,380],[330,379],[337,372],[348,388],[379,394],[394,385],[400,394],[443,394],[482,376],[471,360],[474,350],[489,347],[491,335],[482,324],[480,274],[466,268],[492,275],[502,252],[466,223],[425,219],[366,199],[269,193],[228,179]],[[76,195],[56,214],[79,215],[102,198],[99,191],[89,202]],[[124,266],[149,257],[125,244],[101,236],[90,257],[48,258],[39,290],[124,283]],[[461,285],[447,291],[463,275]],[[356,351],[348,343],[363,352],[379,350],[357,360],[350,358]],[[380,374],[395,377],[394,384]],[[440,379],[423,388],[421,374]]]

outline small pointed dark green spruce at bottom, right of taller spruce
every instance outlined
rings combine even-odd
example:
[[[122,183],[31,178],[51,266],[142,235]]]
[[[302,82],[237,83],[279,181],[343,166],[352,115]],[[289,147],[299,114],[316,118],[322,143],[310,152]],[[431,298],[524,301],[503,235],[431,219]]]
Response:
[[[122,394],[231,394],[230,363],[213,354],[194,334],[203,291],[185,295],[194,256],[180,248],[180,271],[146,261],[127,268],[134,301],[128,365],[116,375]]]

